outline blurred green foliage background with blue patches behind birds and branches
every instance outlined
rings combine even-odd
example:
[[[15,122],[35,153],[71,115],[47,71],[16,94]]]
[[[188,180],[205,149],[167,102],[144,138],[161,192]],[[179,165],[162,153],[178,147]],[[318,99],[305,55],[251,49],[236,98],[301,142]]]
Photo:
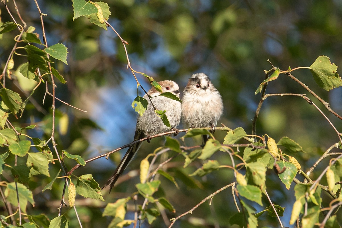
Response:
[[[183,90],[188,78],[196,72],[205,72],[220,91],[224,102],[224,116],[219,123],[230,128],[242,127],[251,133],[251,123],[260,94],[255,90],[264,80],[263,70],[271,69],[267,59],[282,70],[299,66],[310,66],[320,55],[330,57],[332,63],[342,66],[342,1],[272,1],[272,0],[104,0],[108,3],[111,24],[126,40],[131,66],[144,72],[157,81],[174,80]],[[36,5],[33,1],[17,0],[18,10],[29,26],[36,27],[41,33],[41,25]],[[130,143],[133,139],[136,113],[131,102],[136,96],[136,82],[130,70],[126,69],[127,59],[120,39],[113,31],[90,24],[88,19],[80,17],[72,20],[72,2],[67,0],[38,1],[44,17],[48,44],[63,43],[67,46],[68,65],[55,61],[56,68],[67,80],[67,84],[57,84],[56,97],[78,108],[84,113],[56,102],[57,134],[59,149],[81,155],[89,159],[101,153]],[[14,12],[13,4],[8,3]],[[2,22],[10,21],[3,4]],[[18,19],[18,18],[16,18]],[[17,31],[5,33],[0,40],[0,61],[4,65],[13,45],[13,35]],[[20,56],[14,57],[16,69],[21,62]],[[338,71],[339,72],[339,71]],[[340,73],[340,72],[339,72]],[[326,92],[320,89],[308,70],[298,70],[295,77],[309,86],[321,98],[330,103],[331,108],[342,113],[342,90]],[[15,77],[15,73],[14,73]],[[142,76],[139,82],[145,89],[149,83]],[[20,82],[22,88],[26,82]],[[30,93],[12,90],[23,97]],[[34,86],[34,85],[33,85]],[[42,110],[28,104],[24,118],[18,124],[38,123],[39,128],[31,134],[42,135],[49,139],[51,134],[51,98],[42,104],[45,87],[41,86],[34,98]],[[270,82],[268,93],[307,93],[299,84],[285,75]],[[142,91],[139,91],[142,94]],[[308,97],[311,97],[308,95]],[[341,120],[328,113],[323,105],[313,101],[326,113],[332,123],[341,129]],[[15,122],[14,117],[12,121]],[[62,131],[61,129],[65,129]],[[180,129],[182,126],[180,126]],[[338,142],[338,137],[324,117],[314,107],[299,97],[270,97],[264,102],[257,123],[257,134],[268,134],[276,142],[282,136],[288,136],[303,146],[307,152],[297,156],[305,171],[317,160],[329,146]],[[224,132],[215,135],[222,139]],[[130,164],[129,170],[139,168],[142,158],[162,144],[162,139],[144,143],[137,158]],[[123,151],[124,152],[124,151]],[[102,186],[115,170],[120,161],[119,153],[111,156],[112,161],[98,159],[75,171],[75,175],[92,174]],[[216,155],[220,163],[229,163],[227,155]],[[69,169],[75,164],[70,162]],[[181,158],[175,160],[169,171],[176,177],[180,189],[171,182],[162,179],[159,195],[165,195],[176,209],[175,217],[191,209],[203,198],[215,190],[234,181],[232,171],[213,172],[203,178],[190,180],[192,173],[201,164],[195,162],[183,169]],[[326,164],[322,164],[324,168]],[[320,169],[320,167],[318,167]],[[57,173],[50,171],[51,176]],[[127,177],[127,176],[126,176]],[[284,190],[278,177],[269,172],[267,178],[273,185],[270,197],[274,203],[292,206],[292,190]],[[106,202],[129,196],[136,189],[138,176],[129,178],[107,194]],[[37,179],[32,188],[45,186]],[[62,194],[63,182],[56,182],[52,191],[40,194],[34,213],[46,213],[56,216]],[[272,194],[272,195],[271,195]],[[141,200],[141,199],[140,199]],[[265,201],[264,204],[267,204]],[[84,227],[101,227],[110,220],[101,216],[105,204],[95,200],[79,198],[76,200]],[[258,205],[255,205],[258,210]],[[174,227],[231,227],[229,218],[236,213],[232,193],[229,189],[215,196],[212,205],[203,204],[192,215],[187,215]],[[70,219],[73,217],[70,211]],[[129,213],[127,216],[133,216]],[[283,223],[288,226],[290,210],[285,210]],[[262,215],[259,227],[277,227],[274,217]],[[76,221],[69,221],[77,226]],[[74,224],[75,222],[75,224]],[[148,227],[143,224],[142,227]],[[166,227],[160,217],[152,227]]]

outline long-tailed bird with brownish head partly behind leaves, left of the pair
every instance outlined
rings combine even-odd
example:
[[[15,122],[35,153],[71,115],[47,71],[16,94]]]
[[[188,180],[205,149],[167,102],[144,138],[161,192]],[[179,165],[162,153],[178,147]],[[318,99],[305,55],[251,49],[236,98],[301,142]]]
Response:
[[[177,100],[158,95],[161,93],[170,92],[180,98],[179,86],[177,83],[171,80],[160,81],[158,83],[161,86],[162,92],[157,91],[154,87],[147,92],[152,100],[153,105],[151,104],[151,100],[148,98],[147,94],[143,96],[147,100],[148,105],[144,114],[142,116],[138,115],[137,117],[133,141],[147,137],[147,141],[149,142],[151,139],[150,136],[170,131],[170,128],[163,123],[159,116],[156,115],[154,107],[157,110],[166,110],[165,115],[170,122],[171,129],[175,130],[175,135],[178,133],[177,127],[181,121],[181,103]],[[111,191],[115,185],[115,182],[129,165],[140,146],[141,143],[137,143],[129,147],[114,171],[114,174],[108,179],[103,188],[109,186],[109,192]]]

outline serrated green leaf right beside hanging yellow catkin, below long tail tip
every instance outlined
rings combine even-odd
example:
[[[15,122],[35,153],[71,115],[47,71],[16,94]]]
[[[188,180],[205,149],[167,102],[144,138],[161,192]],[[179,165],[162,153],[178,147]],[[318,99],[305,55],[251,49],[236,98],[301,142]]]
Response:
[[[78,178],[76,192],[84,198],[92,198],[105,201],[101,194],[101,188],[91,174],[85,174]]]

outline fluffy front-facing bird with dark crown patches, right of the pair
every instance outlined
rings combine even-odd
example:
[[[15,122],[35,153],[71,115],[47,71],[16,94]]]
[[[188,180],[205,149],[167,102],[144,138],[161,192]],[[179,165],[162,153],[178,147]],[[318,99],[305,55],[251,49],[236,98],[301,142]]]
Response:
[[[215,131],[217,121],[223,114],[221,94],[205,73],[192,75],[184,88],[182,96],[182,121],[189,128],[210,127]],[[208,140],[203,135],[204,143]]]

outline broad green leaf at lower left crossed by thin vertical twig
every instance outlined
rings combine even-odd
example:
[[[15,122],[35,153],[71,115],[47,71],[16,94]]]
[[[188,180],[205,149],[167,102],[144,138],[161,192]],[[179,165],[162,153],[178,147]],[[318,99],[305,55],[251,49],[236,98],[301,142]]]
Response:
[[[19,195],[19,203],[22,212],[26,213],[27,202],[30,202],[32,205],[35,205],[35,201],[33,200],[32,192],[26,188],[23,184],[17,183],[17,190]],[[5,196],[14,206],[18,205],[17,201],[17,190],[15,187],[15,183],[8,183],[7,188],[5,189]]]

